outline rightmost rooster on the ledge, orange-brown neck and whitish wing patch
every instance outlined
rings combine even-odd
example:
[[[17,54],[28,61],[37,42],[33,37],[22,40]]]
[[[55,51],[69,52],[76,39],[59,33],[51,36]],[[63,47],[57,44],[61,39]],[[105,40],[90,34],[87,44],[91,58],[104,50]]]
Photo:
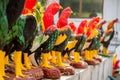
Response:
[[[118,22],[118,18],[112,20],[108,26],[107,26],[107,30],[104,32],[102,38],[101,38],[101,42],[103,44],[103,54],[106,54],[108,55],[109,52],[107,50],[109,44],[110,44],[110,41],[111,39],[113,38],[114,36],[114,24]]]

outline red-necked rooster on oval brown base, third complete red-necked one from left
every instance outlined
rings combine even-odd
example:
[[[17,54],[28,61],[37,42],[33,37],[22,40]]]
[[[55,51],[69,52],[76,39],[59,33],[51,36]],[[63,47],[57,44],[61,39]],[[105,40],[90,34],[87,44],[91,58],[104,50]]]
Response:
[[[76,36],[74,39],[74,51],[72,52],[74,54],[74,60],[70,63],[71,66],[75,68],[87,68],[87,63],[81,60],[81,52],[83,50],[83,46],[86,42],[86,27],[87,27],[87,20],[83,20],[77,31]]]

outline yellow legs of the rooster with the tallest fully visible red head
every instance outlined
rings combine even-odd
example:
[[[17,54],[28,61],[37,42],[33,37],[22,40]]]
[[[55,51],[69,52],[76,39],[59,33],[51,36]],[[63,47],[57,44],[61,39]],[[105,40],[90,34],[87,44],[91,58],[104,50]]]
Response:
[[[42,62],[41,66],[46,68],[53,68],[53,66],[48,64],[49,53],[42,53]]]

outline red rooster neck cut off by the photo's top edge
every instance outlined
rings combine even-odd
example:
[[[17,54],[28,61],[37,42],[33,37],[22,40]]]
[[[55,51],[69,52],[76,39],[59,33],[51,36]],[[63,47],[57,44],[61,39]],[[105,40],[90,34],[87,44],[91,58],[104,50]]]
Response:
[[[37,0],[26,0],[25,6],[23,9],[22,14],[28,14],[28,13],[33,13],[34,12],[34,6],[36,5]]]

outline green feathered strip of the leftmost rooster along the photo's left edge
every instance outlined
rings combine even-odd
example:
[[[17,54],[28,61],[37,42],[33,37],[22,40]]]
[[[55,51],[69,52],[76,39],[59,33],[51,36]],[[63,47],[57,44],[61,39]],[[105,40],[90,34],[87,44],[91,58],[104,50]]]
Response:
[[[0,0],[0,49],[6,44],[8,36],[8,22],[6,16],[6,7],[8,0]]]

